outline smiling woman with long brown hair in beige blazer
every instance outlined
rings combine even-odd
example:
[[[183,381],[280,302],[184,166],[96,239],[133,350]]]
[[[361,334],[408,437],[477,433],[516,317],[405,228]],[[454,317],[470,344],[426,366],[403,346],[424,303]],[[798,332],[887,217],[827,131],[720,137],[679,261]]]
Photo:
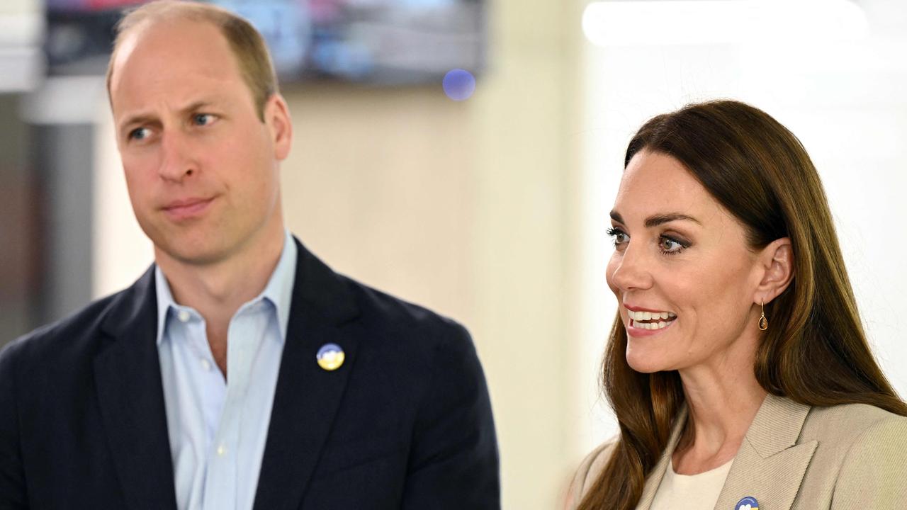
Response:
[[[620,434],[582,462],[569,508],[902,506],[907,405],[794,134],[733,101],[658,115],[629,142],[611,222]]]

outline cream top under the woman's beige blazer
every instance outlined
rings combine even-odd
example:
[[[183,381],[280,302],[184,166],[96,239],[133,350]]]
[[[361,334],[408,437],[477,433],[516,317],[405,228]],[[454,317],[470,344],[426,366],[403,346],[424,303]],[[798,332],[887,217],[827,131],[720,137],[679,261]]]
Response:
[[[725,465],[705,473],[678,475],[674,472],[674,463],[668,462],[651,510],[712,510],[733,463],[734,459],[731,459]]]

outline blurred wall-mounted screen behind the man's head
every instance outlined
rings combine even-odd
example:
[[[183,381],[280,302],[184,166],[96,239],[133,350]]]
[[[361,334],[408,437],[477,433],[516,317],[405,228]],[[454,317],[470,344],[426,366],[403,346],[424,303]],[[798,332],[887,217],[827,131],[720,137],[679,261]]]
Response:
[[[104,74],[123,9],[148,0],[45,0],[51,75]],[[249,19],[282,83],[438,83],[485,64],[486,0],[211,0]]]

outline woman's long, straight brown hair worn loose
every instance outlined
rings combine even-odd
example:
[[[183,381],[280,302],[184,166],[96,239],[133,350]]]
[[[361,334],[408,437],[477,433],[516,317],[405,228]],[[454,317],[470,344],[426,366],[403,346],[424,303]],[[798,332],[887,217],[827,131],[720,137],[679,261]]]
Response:
[[[642,150],[681,162],[744,226],[751,250],[790,238],[795,276],[766,303],[771,327],[756,351],[759,384],[808,406],[860,403],[907,416],[866,342],[822,182],[794,134],[753,106],[715,101],[649,120],[629,142],[624,166]],[[620,435],[578,510],[635,508],[684,404],[676,371],[636,372],[626,349],[618,315],[602,381]]]

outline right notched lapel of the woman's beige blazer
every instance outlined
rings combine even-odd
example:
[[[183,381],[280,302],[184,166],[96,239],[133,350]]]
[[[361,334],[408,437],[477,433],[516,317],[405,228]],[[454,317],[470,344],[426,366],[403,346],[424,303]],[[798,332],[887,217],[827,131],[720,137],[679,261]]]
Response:
[[[809,409],[785,397],[766,397],[734,457],[716,510],[737,510],[734,505],[747,495],[756,498],[759,510],[790,509],[818,444],[796,444]]]

